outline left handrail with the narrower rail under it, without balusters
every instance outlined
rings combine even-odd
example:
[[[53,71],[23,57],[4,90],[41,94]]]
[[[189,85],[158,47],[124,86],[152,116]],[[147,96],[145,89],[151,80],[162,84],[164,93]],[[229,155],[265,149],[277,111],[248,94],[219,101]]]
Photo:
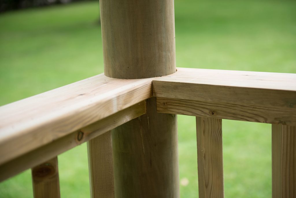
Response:
[[[151,82],[101,74],[0,107],[1,180],[145,114]]]

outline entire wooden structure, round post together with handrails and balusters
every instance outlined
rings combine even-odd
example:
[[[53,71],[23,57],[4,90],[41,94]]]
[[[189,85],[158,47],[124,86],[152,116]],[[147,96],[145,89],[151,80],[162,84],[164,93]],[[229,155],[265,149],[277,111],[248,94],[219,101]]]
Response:
[[[0,107],[0,180],[88,143],[92,197],[179,197],[175,114],[196,116],[199,197],[224,197],[222,119],[272,124],[272,194],[296,197],[296,74],[177,68],[172,0],[101,0],[105,73]],[[111,131],[112,130],[112,131]]]

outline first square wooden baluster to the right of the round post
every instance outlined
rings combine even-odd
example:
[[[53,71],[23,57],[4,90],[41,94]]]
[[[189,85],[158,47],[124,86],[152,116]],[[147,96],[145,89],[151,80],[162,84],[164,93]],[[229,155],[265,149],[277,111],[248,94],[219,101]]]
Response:
[[[199,197],[224,197],[222,120],[196,117],[196,136]]]

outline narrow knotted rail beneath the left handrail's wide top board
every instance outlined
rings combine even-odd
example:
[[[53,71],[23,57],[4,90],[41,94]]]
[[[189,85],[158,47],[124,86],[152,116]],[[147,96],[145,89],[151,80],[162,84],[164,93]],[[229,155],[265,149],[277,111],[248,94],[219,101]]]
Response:
[[[21,155],[0,165],[0,181],[12,177],[24,170],[37,166],[46,160],[61,154],[83,142],[102,135],[132,119],[135,119],[146,113],[145,102],[140,102],[122,111],[119,111],[107,118],[90,124],[75,132],[72,132],[62,138],[54,140],[33,151]]]

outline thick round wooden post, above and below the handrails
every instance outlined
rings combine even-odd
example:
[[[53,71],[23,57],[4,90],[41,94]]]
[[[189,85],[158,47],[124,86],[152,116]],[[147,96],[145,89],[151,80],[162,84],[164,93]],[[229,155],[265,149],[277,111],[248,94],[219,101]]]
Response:
[[[173,0],[100,0],[104,72],[122,79],[176,71]],[[115,197],[179,197],[176,115],[156,111],[112,130]]]

